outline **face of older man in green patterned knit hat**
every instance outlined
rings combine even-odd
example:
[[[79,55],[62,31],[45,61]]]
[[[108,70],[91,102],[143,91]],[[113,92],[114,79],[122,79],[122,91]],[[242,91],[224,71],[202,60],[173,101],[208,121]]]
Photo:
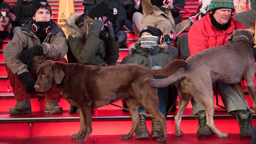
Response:
[[[229,9],[229,8],[216,9],[213,16],[218,23],[226,24],[230,18],[231,12],[232,12],[232,9]]]

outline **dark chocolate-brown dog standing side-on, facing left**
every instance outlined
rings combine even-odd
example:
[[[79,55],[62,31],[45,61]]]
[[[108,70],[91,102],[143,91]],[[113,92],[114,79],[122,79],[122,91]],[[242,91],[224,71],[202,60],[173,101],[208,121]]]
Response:
[[[63,97],[78,107],[80,130],[71,138],[85,142],[92,133],[92,109],[125,99],[132,118],[132,128],[122,139],[131,138],[139,124],[138,108],[142,105],[162,127],[162,136],[167,138],[166,120],[158,110],[157,88],[145,81],[146,78],[167,77],[187,66],[183,60],[175,60],[162,69],[149,69],[136,64],[115,66],[91,66],[44,61],[37,69],[37,91],[50,87],[60,88]]]

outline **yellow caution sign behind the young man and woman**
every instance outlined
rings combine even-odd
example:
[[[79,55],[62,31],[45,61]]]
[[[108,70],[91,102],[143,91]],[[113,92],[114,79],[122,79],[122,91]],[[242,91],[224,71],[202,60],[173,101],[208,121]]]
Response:
[[[65,22],[68,17],[75,12],[73,0],[60,0],[59,4],[59,14],[58,14],[58,24],[65,32],[66,37],[68,38],[67,31],[65,28]],[[65,56],[67,59],[67,55]]]

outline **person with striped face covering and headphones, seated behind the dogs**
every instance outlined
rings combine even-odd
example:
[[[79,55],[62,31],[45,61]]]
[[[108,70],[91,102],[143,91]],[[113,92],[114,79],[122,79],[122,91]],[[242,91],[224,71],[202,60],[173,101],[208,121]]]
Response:
[[[171,54],[164,42],[163,32],[153,26],[145,26],[139,33],[139,41],[130,46],[130,55],[123,58],[121,64],[138,64],[147,68],[160,69],[177,59]],[[178,52],[177,52],[178,53]],[[158,88],[159,110],[165,116],[167,87]],[[139,113],[146,114],[146,110],[140,107]],[[135,132],[135,138],[149,138],[149,131],[146,127],[146,116],[139,114],[140,123]],[[161,126],[155,118],[152,118],[151,137],[157,138],[162,135]]]

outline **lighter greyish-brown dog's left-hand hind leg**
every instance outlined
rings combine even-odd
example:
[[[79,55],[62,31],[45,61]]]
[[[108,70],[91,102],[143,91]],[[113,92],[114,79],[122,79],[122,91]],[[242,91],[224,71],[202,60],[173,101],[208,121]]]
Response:
[[[186,110],[186,107],[188,106],[188,103],[191,99],[191,95],[188,93],[182,93],[180,90],[181,83],[177,83],[177,89],[179,93],[180,98],[180,106],[179,111],[177,115],[175,116],[175,136],[183,136],[183,132],[181,131],[181,119],[183,116],[184,111]]]

